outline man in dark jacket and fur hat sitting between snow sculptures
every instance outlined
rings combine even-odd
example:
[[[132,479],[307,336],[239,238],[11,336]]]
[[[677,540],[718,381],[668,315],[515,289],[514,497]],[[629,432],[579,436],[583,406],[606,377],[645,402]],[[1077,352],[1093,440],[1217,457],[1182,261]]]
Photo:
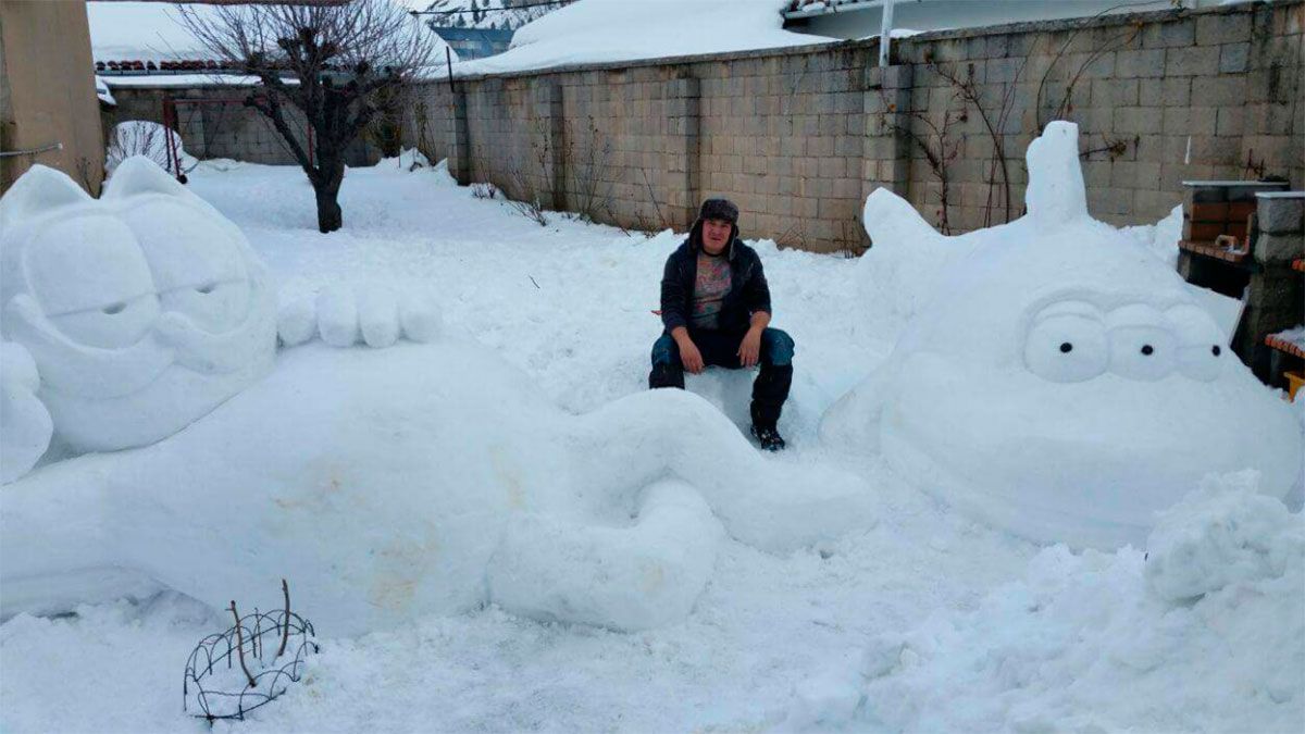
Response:
[[[684,371],[761,364],[752,387],[752,435],[784,448],[776,426],[793,380],[793,340],[770,328],[770,289],[757,252],[739,239],[739,208],[702,202],[698,221],[666,261],[662,323],[649,388],[684,388]]]

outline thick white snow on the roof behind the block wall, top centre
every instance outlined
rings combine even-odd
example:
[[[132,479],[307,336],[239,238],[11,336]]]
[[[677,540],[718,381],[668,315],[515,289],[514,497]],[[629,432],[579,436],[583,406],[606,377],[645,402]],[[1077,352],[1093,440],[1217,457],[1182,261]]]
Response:
[[[820,43],[820,37],[783,30],[786,5],[786,0],[585,0],[522,26],[506,52],[458,63],[454,72],[492,74]]]

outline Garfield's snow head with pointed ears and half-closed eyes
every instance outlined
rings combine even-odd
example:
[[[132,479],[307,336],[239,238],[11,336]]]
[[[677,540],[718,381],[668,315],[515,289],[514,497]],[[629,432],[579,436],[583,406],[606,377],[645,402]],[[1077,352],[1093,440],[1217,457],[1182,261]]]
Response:
[[[145,158],[99,200],[33,167],[0,201],[0,332],[74,451],[175,434],[270,368],[275,308],[235,225]]]

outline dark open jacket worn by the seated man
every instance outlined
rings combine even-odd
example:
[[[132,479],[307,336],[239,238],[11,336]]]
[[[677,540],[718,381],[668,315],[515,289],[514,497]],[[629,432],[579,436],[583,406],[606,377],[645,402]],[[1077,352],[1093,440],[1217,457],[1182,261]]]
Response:
[[[693,311],[693,287],[698,278],[698,252],[702,249],[702,221],[693,225],[689,238],[666,259],[662,274],[662,324],[667,333],[676,327],[689,327]],[[761,269],[757,252],[739,240],[735,226],[726,246],[729,259],[729,293],[720,302],[720,330],[746,332],[752,315],[770,313],[770,287]]]

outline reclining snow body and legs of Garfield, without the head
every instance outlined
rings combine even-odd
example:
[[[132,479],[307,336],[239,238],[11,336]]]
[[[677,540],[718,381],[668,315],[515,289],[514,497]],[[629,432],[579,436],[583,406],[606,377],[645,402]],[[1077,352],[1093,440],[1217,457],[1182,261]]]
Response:
[[[9,485],[0,613],[141,579],[270,609],[286,577],[331,636],[487,602],[638,630],[689,613],[722,524],[783,551],[869,522],[859,479],[760,456],[689,393],[573,417],[479,346],[309,343],[168,439]]]

